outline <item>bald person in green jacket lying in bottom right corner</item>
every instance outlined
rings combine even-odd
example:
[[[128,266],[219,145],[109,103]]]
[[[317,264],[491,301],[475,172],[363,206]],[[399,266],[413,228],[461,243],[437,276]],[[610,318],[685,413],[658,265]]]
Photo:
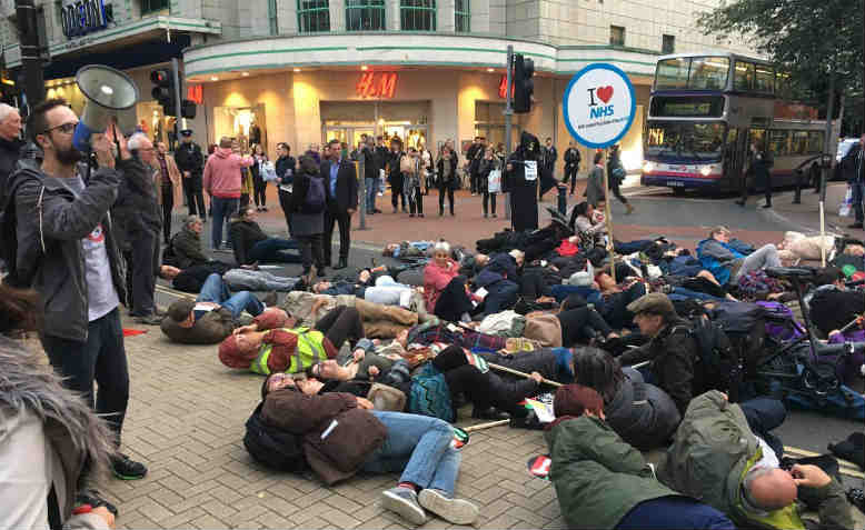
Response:
[[[726,513],[739,528],[804,529],[801,501],[822,528],[853,528],[841,483],[816,466],[779,468],[748,412],[718,391],[695,398],[658,467],[658,478]]]

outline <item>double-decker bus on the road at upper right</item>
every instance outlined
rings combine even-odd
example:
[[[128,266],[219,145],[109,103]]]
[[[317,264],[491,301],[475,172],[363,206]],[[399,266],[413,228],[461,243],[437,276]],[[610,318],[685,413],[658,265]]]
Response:
[[[772,186],[796,182],[803,168],[819,176],[825,120],[817,110],[785,101],[784,72],[735,53],[679,53],[658,58],[644,133],[644,186],[674,191],[742,189],[750,146],[774,158]],[[835,122],[838,127],[838,122]],[[837,134],[829,152],[835,152]]]

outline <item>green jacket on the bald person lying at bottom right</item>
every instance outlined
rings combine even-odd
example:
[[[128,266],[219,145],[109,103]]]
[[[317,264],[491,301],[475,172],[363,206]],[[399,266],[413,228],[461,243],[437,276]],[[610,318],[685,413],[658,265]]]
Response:
[[[806,528],[796,503],[767,513],[746,510],[742,483],[762,456],[742,408],[710,391],[688,406],[658,479],[726,513],[739,527]],[[849,504],[835,479],[825,488],[799,488],[799,500],[819,512],[822,528],[853,528]]]

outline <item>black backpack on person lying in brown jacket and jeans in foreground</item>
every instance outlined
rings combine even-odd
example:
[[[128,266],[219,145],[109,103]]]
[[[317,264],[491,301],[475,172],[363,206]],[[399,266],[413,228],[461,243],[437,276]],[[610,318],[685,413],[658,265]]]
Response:
[[[266,426],[261,420],[264,404],[264,401],[258,403],[247,420],[243,446],[249,456],[258,463],[277,471],[306,471],[308,466],[304,457],[302,437]]]

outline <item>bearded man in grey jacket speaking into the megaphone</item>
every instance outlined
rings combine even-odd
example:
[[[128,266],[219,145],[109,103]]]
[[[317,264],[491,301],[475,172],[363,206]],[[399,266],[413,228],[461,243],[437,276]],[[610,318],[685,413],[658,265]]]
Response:
[[[79,162],[84,156],[72,141],[78,126],[76,113],[58,99],[36,106],[28,118],[28,137],[44,158],[41,166],[21,164],[10,177],[17,247],[9,281],[41,293],[41,341],[51,366],[63,384],[109,422],[119,446],[129,400],[119,310],[126,288],[109,210],[121,177],[115,169],[115,147],[121,159],[131,154],[111,124],[90,137],[99,169],[82,174]],[[147,473],[143,464],[119,451],[111,463],[122,479]]]

